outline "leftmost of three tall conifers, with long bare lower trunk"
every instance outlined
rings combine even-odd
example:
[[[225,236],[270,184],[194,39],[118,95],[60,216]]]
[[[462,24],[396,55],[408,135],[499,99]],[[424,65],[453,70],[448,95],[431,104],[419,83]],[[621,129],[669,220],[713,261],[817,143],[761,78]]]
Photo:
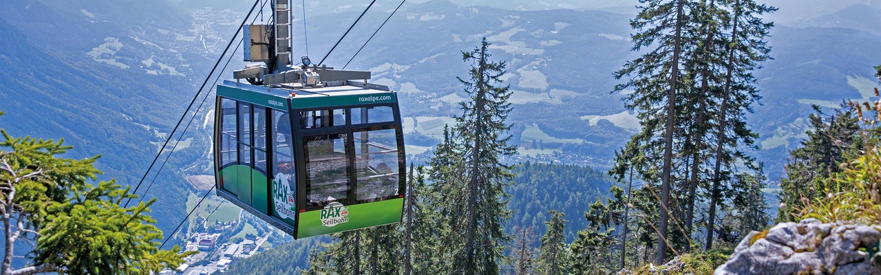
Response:
[[[633,87],[635,93],[626,97],[626,108],[638,110],[637,118],[643,127],[643,135],[633,139],[646,138],[636,142],[646,146],[657,143],[655,133],[663,131],[663,161],[661,173],[660,204],[662,205],[658,234],[662,241],[657,243],[656,262],[663,263],[667,253],[668,222],[670,210],[670,184],[673,166],[673,133],[677,120],[677,92],[686,85],[680,75],[682,57],[690,41],[685,37],[689,24],[686,11],[690,8],[685,0],[659,1],[640,0],[640,12],[630,25],[637,33],[633,34],[633,51],[643,47],[653,47],[642,56],[627,62],[624,68],[615,72],[615,78],[632,77],[627,83],[617,85],[616,92]],[[663,122],[663,123],[662,123]],[[640,146],[641,147],[641,146]]]

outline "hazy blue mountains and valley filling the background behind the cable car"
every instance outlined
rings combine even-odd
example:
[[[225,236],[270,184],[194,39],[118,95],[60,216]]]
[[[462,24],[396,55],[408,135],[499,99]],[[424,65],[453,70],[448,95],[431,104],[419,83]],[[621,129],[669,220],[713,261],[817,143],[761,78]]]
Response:
[[[761,135],[756,154],[772,180],[803,137],[812,104],[831,111],[841,100],[870,99],[877,86],[871,66],[881,63],[881,33],[873,28],[881,21],[881,5],[812,1],[823,3],[771,2],[781,4],[783,23],[769,38],[774,60],[756,72],[764,98],[749,123]],[[461,51],[485,37],[492,58],[507,63],[504,78],[515,93],[509,123],[521,155],[608,167],[614,150],[639,128],[621,95],[610,93],[618,83],[611,73],[637,55],[630,50],[628,25],[635,3],[548,2],[408,2],[353,56],[396,7],[379,3],[326,63],[339,69],[353,57],[346,69],[373,71],[372,81],[400,93],[407,150],[418,161],[467,96],[456,79],[466,78],[469,66]],[[16,136],[65,137],[77,147],[70,157],[102,153],[99,167],[106,178],[135,185],[251,4],[2,2],[0,66],[6,69],[0,71],[0,110],[7,115],[0,125]],[[295,50],[322,60],[366,4],[307,2],[305,32],[303,18],[294,19]],[[588,10],[596,8],[603,11]],[[241,50],[234,55],[224,78],[244,65]],[[202,109],[196,115],[196,125],[159,175],[161,188],[146,196],[159,197],[153,210],[163,217],[165,232],[184,216],[187,198],[181,194],[204,192],[185,178],[212,173],[207,114]]]

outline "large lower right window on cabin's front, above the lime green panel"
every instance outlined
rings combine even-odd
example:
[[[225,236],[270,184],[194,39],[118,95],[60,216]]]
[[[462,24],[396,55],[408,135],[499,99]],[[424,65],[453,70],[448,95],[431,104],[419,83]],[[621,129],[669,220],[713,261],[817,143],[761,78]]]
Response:
[[[356,197],[376,201],[398,194],[399,160],[394,129],[354,133]]]

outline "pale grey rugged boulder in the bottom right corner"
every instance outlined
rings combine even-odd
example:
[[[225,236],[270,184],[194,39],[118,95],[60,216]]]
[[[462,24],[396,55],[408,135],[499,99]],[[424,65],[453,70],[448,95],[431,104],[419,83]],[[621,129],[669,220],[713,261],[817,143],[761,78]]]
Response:
[[[881,274],[879,239],[878,226],[781,223],[747,235],[714,274]]]

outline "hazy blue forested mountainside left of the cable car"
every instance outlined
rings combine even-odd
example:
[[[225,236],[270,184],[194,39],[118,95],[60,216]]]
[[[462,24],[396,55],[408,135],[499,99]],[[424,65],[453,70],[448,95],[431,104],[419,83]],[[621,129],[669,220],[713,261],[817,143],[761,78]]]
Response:
[[[190,26],[188,13],[165,11],[162,3],[125,4],[0,3],[0,110],[6,113],[0,125],[14,136],[65,138],[75,146],[67,157],[101,154],[102,180],[134,185],[194,94],[189,79],[207,71],[207,59],[184,50],[189,46],[174,33],[160,39],[159,30]],[[199,140],[189,139],[191,145]],[[186,194],[194,190],[178,173],[206,151],[195,147],[179,148],[146,196],[159,197],[152,215],[166,233],[182,219]]]

